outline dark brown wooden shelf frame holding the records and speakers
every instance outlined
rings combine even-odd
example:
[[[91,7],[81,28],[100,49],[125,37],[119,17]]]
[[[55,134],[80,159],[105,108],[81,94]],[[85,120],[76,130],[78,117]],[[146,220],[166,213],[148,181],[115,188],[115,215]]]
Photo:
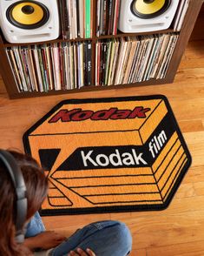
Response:
[[[123,1],[123,0],[122,0]],[[13,71],[10,67],[10,61],[6,54],[7,47],[18,46],[18,45],[30,45],[30,44],[9,44],[3,38],[3,34],[0,30],[0,73],[3,77],[3,82],[5,84],[6,90],[8,91],[10,98],[31,98],[31,97],[40,97],[40,96],[47,96],[47,95],[56,95],[56,94],[64,94],[64,93],[72,93],[72,92],[80,92],[80,91],[95,91],[95,90],[108,90],[108,89],[120,89],[120,88],[128,88],[133,86],[141,86],[141,85],[156,85],[156,84],[171,84],[174,81],[174,77],[178,66],[181,62],[181,57],[185,51],[185,48],[188,44],[188,39],[194,29],[194,24],[196,19],[199,15],[201,10],[201,6],[204,3],[204,0],[190,0],[188,11],[186,17],[183,21],[181,31],[179,31],[178,41],[174,48],[174,53],[171,58],[170,64],[168,65],[168,71],[165,78],[162,79],[150,79],[144,82],[137,82],[133,84],[117,84],[117,85],[109,85],[109,86],[95,86],[95,44],[98,40],[103,39],[111,39],[116,37],[131,37],[131,36],[141,36],[141,35],[155,35],[155,34],[163,34],[163,33],[173,33],[173,27],[170,27],[168,30],[160,30],[154,32],[146,32],[142,34],[124,34],[118,31],[117,35],[107,35],[107,36],[100,36],[96,37],[96,22],[95,16],[93,16],[93,32],[91,38],[76,38],[75,40],[63,40],[60,37],[56,40],[52,40],[49,42],[42,42],[42,43],[35,43],[35,44],[53,44],[53,43],[61,43],[61,42],[84,42],[89,40],[92,45],[92,71],[91,71],[91,85],[83,86],[80,89],[73,89],[73,90],[59,90],[59,91],[47,91],[47,92],[40,92],[40,91],[26,91],[26,92],[19,92],[16,86],[16,80],[13,75]],[[93,1],[93,13],[96,14],[96,1]]]

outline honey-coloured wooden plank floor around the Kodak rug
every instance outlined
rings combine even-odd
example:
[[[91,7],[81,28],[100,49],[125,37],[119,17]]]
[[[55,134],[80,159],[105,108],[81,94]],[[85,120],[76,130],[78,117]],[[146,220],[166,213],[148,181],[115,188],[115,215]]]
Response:
[[[168,209],[47,217],[43,220],[48,229],[69,234],[89,222],[119,219],[132,232],[131,255],[201,256],[204,255],[204,41],[188,44],[174,84],[10,100],[0,78],[1,147],[23,150],[23,132],[63,99],[149,94],[168,97],[193,157],[193,164]]]

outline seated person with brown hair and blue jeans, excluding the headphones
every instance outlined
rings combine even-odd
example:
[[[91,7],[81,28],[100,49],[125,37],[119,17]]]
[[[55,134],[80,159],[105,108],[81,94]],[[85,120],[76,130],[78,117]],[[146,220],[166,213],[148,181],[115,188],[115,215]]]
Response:
[[[9,154],[20,167],[26,186],[27,216],[25,239],[16,240],[16,190],[2,158]],[[15,172],[15,170],[14,170]],[[105,220],[77,230],[69,238],[54,231],[45,231],[37,212],[48,191],[48,179],[35,159],[14,151],[0,151],[0,252],[3,256],[24,255],[88,255],[126,256],[132,238],[128,227],[118,221]]]

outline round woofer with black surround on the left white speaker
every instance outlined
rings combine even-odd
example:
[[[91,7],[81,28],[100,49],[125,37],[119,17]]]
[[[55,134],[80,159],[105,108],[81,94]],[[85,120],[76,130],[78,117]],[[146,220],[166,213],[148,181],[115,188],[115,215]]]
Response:
[[[43,3],[36,1],[18,1],[6,11],[9,22],[24,30],[42,27],[49,20],[49,10]]]

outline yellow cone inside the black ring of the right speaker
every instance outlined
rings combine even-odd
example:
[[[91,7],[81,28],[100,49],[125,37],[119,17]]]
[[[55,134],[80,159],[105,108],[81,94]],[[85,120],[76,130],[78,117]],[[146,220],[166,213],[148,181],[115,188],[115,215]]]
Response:
[[[152,1],[152,3],[146,3],[144,0],[137,0],[135,2],[135,10],[141,14],[149,15],[161,10],[165,3],[165,0],[155,0]]]

